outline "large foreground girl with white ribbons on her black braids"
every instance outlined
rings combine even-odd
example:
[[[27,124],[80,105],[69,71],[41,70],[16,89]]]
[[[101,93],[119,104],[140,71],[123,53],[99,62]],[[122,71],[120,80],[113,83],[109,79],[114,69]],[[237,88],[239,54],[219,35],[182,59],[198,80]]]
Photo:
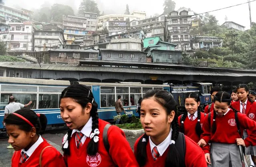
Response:
[[[138,167],[124,132],[117,126],[109,127],[109,148],[105,148],[103,129],[108,123],[99,119],[97,106],[85,85],[70,85],[62,91],[60,115],[69,127],[62,141],[67,166]]]

